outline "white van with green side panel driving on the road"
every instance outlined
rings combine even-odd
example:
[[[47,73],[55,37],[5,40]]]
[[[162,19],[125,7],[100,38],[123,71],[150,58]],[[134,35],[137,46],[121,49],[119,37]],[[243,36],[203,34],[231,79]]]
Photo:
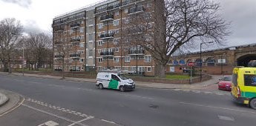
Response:
[[[134,90],[135,83],[120,73],[98,73],[96,78],[96,87],[99,89],[110,88],[120,91]]]

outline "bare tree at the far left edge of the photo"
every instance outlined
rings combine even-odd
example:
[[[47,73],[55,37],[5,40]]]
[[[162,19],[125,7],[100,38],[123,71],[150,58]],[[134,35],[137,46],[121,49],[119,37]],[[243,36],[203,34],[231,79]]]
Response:
[[[4,71],[11,73],[11,54],[22,36],[22,24],[16,19],[3,19],[0,22],[0,52]]]

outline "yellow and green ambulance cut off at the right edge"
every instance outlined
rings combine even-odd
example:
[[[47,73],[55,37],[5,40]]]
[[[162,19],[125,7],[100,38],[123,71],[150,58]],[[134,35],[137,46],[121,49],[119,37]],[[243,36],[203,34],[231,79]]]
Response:
[[[232,98],[256,109],[256,67],[234,67]]]

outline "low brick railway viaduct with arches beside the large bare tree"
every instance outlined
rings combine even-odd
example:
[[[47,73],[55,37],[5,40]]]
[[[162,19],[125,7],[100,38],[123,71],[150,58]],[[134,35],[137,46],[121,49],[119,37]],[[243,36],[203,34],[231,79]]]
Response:
[[[182,56],[174,56],[168,62],[166,72],[183,73],[187,72],[188,62],[194,62],[194,68],[209,74],[232,74],[234,66],[247,67],[250,62],[256,60],[256,44],[246,44],[236,47],[225,47],[218,50],[188,53]],[[202,63],[201,63],[202,62]]]

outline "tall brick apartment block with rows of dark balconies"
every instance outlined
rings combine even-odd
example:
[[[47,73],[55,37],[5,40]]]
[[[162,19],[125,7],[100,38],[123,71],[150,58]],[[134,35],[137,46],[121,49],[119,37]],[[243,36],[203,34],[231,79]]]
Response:
[[[53,19],[54,69],[95,67],[154,76],[151,54],[140,44],[128,45],[123,32],[129,16],[152,16],[153,6],[152,0],[109,0],[57,16]]]

